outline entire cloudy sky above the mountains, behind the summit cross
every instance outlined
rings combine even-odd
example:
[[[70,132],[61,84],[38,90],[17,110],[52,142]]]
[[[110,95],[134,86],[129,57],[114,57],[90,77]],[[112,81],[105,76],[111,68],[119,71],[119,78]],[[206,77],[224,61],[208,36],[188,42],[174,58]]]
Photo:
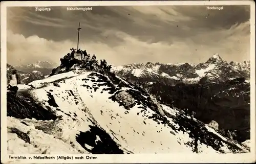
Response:
[[[250,59],[250,6],[48,8],[51,11],[7,7],[7,63],[60,63],[71,47],[77,47],[78,22],[79,48],[115,66],[200,63],[215,53],[228,62]]]

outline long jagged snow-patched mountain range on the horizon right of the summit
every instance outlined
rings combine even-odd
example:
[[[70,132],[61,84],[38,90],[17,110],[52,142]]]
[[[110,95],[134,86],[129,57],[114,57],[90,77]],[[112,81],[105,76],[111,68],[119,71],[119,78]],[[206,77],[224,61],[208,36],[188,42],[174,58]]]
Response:
[[[131,82],[151,83],[164,81],[169,85],[177,83],[220,82],[245,77],[249,80],[249,61],[243,63],[224,61],[214,54],[206,62],[199,64],[128,64],[112,68],[112,72]]]

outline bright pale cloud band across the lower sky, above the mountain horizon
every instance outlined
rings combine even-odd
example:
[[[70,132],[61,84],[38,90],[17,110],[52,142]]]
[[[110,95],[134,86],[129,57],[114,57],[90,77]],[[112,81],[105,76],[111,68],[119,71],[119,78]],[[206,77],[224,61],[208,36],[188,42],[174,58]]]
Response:
[[[162,62],[177,63],[205,62],[219,53],[224,60],[248,60],[250,56],[250,23],[233,25],[229,29],[197,33],[192,37],[172,37],[171,42],[150,39],[142,41],[122,31],[105,30],[99,36],[107,39],[80,40],[80,48],[95,54],[97,59],[106,59],[113,65],[129,63]],[[112,42],[112,43],[110,43]],[[76,47],[71,40],[53,41],[36,35],[24,37],[8,31],[7,61],[10,64],[28,64],[37,60],[59,62],[59,58]]]

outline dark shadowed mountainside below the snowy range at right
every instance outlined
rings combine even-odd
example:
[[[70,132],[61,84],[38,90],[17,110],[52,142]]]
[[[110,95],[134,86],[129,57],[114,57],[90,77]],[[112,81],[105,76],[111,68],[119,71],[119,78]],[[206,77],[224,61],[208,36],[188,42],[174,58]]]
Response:
[[[246,133],[250,128],[250,85],[238,78],[221,83],[180,84],[174,87],[155,84],[151,92],[161,101],[179,109],[195,111],[195,118],[209,124],[212,120],[220,129]],[[245,136],[245,135],[243,135]]]

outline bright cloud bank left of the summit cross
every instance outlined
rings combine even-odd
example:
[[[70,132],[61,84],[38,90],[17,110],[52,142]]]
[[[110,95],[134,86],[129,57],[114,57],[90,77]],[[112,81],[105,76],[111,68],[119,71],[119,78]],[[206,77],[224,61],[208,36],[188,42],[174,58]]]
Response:
[[[59,61],[72,46],[69,40],[56,42],[36,35],[24,37],[22,34],[7,32],[7,63],[29,64],[37,60]]]

